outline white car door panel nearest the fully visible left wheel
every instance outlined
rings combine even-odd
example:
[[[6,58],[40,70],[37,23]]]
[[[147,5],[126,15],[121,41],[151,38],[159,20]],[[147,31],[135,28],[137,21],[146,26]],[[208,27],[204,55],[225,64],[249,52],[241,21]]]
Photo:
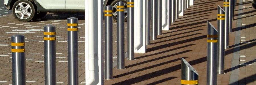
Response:
[[[65,9],[65,0],[36,0],[43,8],[46,9]]]

